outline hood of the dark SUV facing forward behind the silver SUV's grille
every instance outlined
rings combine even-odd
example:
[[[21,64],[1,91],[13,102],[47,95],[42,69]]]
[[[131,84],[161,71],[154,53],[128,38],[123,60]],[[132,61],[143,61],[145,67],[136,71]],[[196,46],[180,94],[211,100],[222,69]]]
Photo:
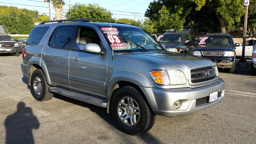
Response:
[[[225,51],[225,50],[234,50],[234,46],[230,46],[230,45],[199,45],[196,47],[196,49]]]

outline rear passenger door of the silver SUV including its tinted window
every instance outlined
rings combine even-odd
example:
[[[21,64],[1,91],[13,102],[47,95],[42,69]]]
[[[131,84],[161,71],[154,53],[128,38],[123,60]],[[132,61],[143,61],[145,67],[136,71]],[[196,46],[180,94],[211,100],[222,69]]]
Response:
[[[58,26],[42,52],[51,84],[70,89],[68,80],[69,55],[74,43],[75,26]]]

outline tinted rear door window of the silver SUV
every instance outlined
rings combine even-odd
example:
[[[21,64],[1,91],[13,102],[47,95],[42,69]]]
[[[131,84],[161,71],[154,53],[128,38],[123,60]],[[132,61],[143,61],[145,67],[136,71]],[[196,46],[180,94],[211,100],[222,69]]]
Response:
[[[49,45],[54,48],[71,49],[74,26],[59,26],[52,34]]]

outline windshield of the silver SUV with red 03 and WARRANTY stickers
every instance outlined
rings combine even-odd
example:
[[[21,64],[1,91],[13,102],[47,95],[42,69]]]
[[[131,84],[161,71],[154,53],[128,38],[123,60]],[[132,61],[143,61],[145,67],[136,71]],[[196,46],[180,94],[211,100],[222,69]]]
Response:
[[[141,28],[100,27],[114,52],[162,51],[162,47]]]

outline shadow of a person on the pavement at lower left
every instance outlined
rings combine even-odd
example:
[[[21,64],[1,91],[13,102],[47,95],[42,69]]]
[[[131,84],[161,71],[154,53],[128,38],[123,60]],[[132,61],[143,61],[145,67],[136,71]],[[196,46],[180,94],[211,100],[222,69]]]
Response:
[[[34,144],[33,129],[38,129],[40,123],[30,107],[24,102],[17,104],[17,111],[7,116],[6,144]]]

